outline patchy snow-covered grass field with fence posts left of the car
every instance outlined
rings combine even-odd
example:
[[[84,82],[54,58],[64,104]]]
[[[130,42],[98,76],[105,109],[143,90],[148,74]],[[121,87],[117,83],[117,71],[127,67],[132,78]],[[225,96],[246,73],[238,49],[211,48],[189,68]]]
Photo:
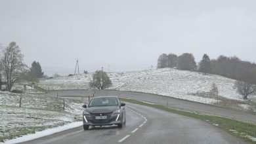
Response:
[[[20,105],[20,96],[22,104]],[[51,98],[39,93],[0,92],[0,142],[81,121],[81,101]]]

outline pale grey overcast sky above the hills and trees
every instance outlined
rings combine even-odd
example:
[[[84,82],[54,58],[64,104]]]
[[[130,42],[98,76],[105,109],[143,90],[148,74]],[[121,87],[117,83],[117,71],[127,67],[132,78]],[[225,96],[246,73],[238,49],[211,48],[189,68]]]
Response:
[[[43,71],[156,66],[162,53],[194,54],[199,62],[238,56],[256,62],[256,1],[0,0],[0,43],[16,43],[24,61]]]

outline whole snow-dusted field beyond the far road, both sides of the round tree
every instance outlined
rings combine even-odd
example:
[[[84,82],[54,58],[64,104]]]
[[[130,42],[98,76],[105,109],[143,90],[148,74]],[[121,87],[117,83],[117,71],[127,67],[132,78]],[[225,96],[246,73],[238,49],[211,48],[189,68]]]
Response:
[[[50,90],[88,89],[92,74],[43,80],[40,81],[39,86],[46,89],[49,86]],[[113,82],[113,86],[110,89],[160,94],[202,103],[215,103],[216,99],[192,96],[190,94],[209,92],[213,82],[215,82],[219,90],[219,96],[243,101],[242,96],[236,93],[233,88],[234,80],[218,75],[203,75],[198,72],[165,68],[120,73],[111,72],[108,73],[108,76]],[[249,96],[248,98],[256,99],[256,96]]]

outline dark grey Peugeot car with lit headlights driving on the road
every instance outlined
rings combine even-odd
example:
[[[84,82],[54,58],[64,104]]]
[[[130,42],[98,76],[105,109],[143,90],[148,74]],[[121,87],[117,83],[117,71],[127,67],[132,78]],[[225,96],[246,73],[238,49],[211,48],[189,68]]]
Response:
[[[100,96],[92,98],[88,105],[83,105],[83,129],[89,126],[117,125],[122,128],[126,124],[125,103],[116,96]]]

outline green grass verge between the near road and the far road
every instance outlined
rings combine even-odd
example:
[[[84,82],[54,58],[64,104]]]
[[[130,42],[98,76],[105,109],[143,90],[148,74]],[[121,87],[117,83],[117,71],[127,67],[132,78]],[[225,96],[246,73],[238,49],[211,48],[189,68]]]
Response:
[[[250,124],[247,122],[240,122],[238,120],[233,120],[230,118],[217,117],[217,116],[207,115],[207,114],[203,114],[203,113],[184,111],[181,109],[175,109],[175,108],[166,107],[163,105],[157,105],[154,103],[147,103],[147,102],[138,101],[135,99],[121,98],[121,100],[127,101],[129,103],[135,103],[135,104],[139,104],[139,105],[146,105],[146,106],[154,107],[156,109],[161,109],[163,111],[177,113],[179,115],[184,115],[184,116],[188,116],[188,117],[192,117],[192,118],[198,118],[200,120],[203,120],[205,122],[213,124],[213,125],[221,128],[222,130],[225,130],[229,134],[239,137],[240,139],[244,139],[245,141],[247,141],[249,143],[256,144],[256,125],[255,124]]]

